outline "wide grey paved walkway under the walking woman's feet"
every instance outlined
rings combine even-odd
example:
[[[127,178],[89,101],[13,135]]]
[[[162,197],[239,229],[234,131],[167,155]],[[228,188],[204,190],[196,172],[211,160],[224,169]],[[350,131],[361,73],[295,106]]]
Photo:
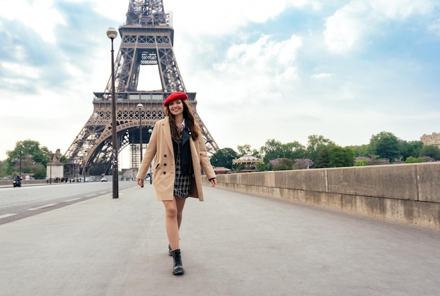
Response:
[[[146,184],[0,226],[0,295],[440,295],[440,232],[205,187],[172,275]]]

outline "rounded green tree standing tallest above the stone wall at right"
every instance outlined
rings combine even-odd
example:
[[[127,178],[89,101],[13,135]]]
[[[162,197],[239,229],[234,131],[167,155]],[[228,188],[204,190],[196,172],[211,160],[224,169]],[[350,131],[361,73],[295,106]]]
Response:
[[[400,141],[394,134],[381,131],[370,139],[370,154],[375,154],[380,158],[387,158],[389,162],[394,162],[395,158],[401,157]]]

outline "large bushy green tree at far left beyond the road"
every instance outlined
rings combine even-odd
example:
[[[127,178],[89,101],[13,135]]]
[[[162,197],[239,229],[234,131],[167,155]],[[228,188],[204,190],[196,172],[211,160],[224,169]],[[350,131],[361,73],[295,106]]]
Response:
[[[35,179],[46,178],[49,150],[40,147],[38,141],[25,140],[15,143],[14,150],[6,151],[5,172],[9,175],[34,174]]]

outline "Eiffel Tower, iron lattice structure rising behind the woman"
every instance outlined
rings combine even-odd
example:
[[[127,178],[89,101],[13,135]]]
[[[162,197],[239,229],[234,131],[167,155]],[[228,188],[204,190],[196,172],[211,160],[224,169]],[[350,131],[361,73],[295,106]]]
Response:
[[[174,56],[174,29],[162,0],[129,0],[127,21],[119,27],[121,44],[115,60],[115,92],[117,98],[118,154],[131,146],[140,156],[140,143],[148,143],[155,122],[164,118],[163,101],[170,93],[188,94],[188,103],[200,125],[208,153],[219,149],[196,111],[194,92],[187,92]],[[110,56],[110,55],[109,55]],[[156,66],[162,89],[139,91],[139,72],[142,67]],[[70,145],[65,157],[65,176],[110,174],[112,157],[112,81],[105,91],[94,92],[93,113]],[[138,110],[141,103],[143,108]],[[142,127],[140,125],[142,123]],[[142,132],[140,132],[142,129]],[[142,134],[142,142],[140,135]],[[137,153],[136,153],[137,151]],[[140,160],[136,160],[136,164]],[[76,174],[75,174],[76,172]]]

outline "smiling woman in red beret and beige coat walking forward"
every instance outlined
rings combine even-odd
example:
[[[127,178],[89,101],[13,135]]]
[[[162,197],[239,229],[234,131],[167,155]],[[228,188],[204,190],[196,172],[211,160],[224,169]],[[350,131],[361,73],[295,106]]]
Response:
[[[165,229],[169,241],[168,254],[174,259],[173,274],[185,271],[179,247],[179,229],[183,207],[188,196],[203,201],[202,169],[214,187],[216,175],[202,132],[182,92],[174,92],[164,101],[165,117],[156,122],[147,149],[143,155],[136,181],[143,186],[153,158],[153,185],[156,199],[164,204]]]

